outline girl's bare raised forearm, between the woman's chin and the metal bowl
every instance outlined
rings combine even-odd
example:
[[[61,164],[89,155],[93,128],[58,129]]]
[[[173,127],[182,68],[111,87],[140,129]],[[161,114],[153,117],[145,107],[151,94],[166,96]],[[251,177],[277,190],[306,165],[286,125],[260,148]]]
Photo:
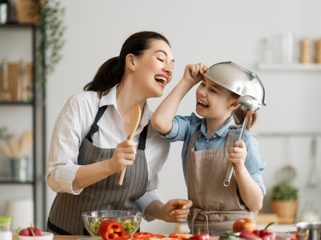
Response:
[[[183,79],[175,86],[154,112],[151,120],[154,128],[165,135],[170,132],[178,105],[192,87]]]

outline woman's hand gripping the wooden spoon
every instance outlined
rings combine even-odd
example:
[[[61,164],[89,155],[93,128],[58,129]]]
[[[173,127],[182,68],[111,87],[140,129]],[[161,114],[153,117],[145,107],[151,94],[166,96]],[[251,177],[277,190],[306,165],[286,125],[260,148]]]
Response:
[[[132,140],[125,140],[117,145],[113,156],[106,160],[108,171],[119,172],[125,166],[131,166],[136,158],[136,143]]]

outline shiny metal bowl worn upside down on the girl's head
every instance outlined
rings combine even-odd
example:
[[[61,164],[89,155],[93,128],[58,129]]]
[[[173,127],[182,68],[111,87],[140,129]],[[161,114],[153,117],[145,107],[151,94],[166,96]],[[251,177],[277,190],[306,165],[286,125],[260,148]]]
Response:
[[[216,63],[203,76],[240,96],[254,97],[260,105],[259,108],[266,106],[265,90],[260,78],[234,62]]]

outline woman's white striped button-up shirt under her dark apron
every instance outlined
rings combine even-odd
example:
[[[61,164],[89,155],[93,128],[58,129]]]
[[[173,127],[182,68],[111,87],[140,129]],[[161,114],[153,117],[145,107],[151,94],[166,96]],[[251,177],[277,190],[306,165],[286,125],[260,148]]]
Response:
[[[47,161],[48,186],[55,192],[80,194],[83,189],[74,191],[72,183],[78,165],[78,154],[82,140],[93,124],[98,108],[108,105],[98,122],[99,131],[92,136],[93,145],[99,148],[116,148],[117,144],[126,140],[126,133],[116,103],[116,86],[99,98],[97,92],[82,92],[71,96],[62,108],[51,137]],[[134,134],[136,148],[140,133],[151,119],[147,101],[144,106],[140,126]],[[146,139],[145,156],[148,167],[148,183],[146,193],[137,201],[144,212],[146,206],[154,200],[160,200],[156,191],[159,187],[158,174],[169,154],[169,141],[161,138],[159,132],[149,124]],[[146,220],[153,220],[146,217]]]

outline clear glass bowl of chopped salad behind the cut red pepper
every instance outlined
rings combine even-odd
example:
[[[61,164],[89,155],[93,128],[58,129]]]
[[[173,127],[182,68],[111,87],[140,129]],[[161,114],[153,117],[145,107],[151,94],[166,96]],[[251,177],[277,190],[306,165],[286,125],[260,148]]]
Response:
[[[119,222],[125,229],[125,233],[131,236],[139,228],[143,218],[142,212],[127,211],[127,210],[115,210],[115,211],[94,211],[82,213],[82,221],[93,237],[99,236],[98,228],[100,222],[104,220],[113,220]]]

